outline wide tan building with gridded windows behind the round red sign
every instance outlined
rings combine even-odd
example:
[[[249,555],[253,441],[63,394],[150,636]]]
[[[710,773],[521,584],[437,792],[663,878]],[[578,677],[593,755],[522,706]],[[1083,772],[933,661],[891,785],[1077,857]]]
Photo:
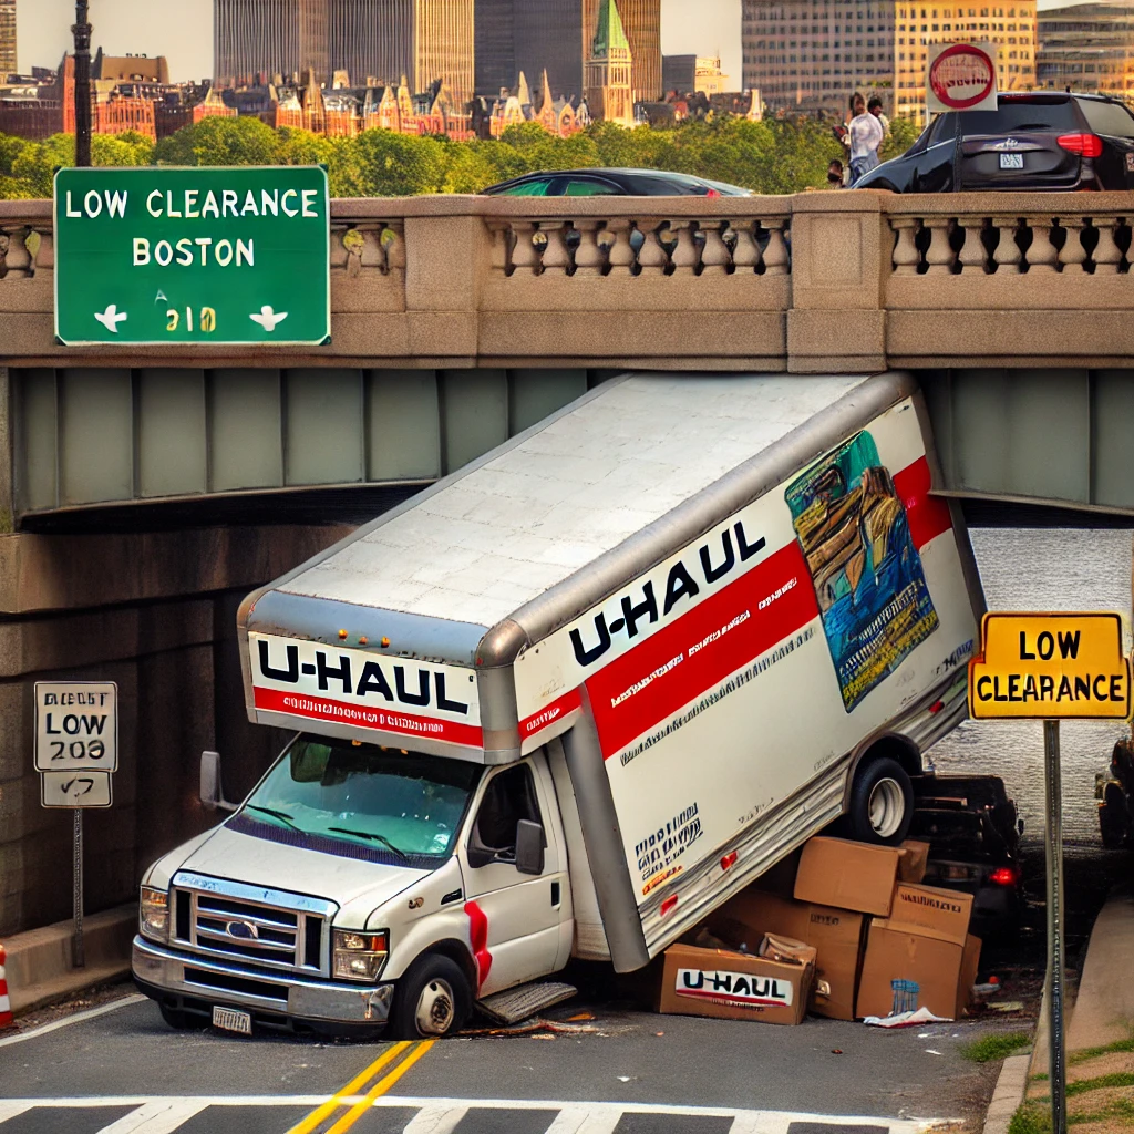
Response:
[[[743,85],[772,112],[841,117],[861,91],[922,121],[930,48],[972,41],[997,46],[1000,90],[1035,85],[1035,0],[743,0]]]

